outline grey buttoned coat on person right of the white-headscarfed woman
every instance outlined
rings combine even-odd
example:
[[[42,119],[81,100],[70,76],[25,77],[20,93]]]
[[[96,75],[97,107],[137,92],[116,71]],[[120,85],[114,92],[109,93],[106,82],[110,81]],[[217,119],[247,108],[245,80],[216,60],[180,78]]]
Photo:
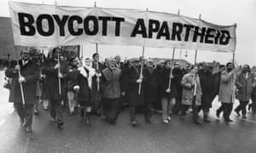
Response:
[[[106,68],[102,71],[102,96],[108,99],[117,99],[120,97],[121,88],[119,78],[121,70]]]

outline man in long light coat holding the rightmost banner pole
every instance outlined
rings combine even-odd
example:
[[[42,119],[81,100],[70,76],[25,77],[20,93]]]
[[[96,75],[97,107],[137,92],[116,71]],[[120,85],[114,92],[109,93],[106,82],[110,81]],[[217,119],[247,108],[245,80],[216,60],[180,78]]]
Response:
[[[219,92],[218,92],[218,101],[222,103],[219,110],[224,110],[224,121],[233,122],[230,119],[230,113],[233,109],[233,103],[235,101],[235,75],[236,69],[232,63],[227,63],[226,71],[221,74]]]

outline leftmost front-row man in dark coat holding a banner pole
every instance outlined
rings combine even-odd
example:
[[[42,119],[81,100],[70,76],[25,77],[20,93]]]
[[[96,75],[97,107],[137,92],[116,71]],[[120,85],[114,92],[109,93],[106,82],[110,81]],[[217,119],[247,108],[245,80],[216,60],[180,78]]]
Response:
[[[36,88],[40,69],[30,59],[30,50],[28,48],[23,49],[20,56],[21,59],[18,63],[11,65],[5,71],[5,75],[12,78],[9,101],[15,103],[16,111],[20,116],[20,124],[26,127],[26,133],[31,133],[33,106],[38,100]]]

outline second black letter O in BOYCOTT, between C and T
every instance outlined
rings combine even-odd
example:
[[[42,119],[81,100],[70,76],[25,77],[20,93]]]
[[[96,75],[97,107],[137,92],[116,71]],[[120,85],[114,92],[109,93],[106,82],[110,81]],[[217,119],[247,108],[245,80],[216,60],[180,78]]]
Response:
[[[93,26],[90,27],[90,22],[93,22]],[[99,31],[99,23],[96,16],[87,16],[84,19],[84,31],[86,35],[96,35]]]

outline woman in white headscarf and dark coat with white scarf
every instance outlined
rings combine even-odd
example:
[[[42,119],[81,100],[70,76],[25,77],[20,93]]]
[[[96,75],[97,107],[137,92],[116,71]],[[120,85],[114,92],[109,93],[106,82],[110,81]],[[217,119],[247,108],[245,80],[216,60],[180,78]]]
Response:
[[[79,65],[77,76],[75,77],[75,83],[73,89],[78,93],[77,101],[81,106],[81,118],[84,119],[85,111],[85,123],[90,125],[90,112],[91,112],[91,82],[92,77],[95,76],[95,69],[91,67],[91,60],[86,58],[84,66]]]

